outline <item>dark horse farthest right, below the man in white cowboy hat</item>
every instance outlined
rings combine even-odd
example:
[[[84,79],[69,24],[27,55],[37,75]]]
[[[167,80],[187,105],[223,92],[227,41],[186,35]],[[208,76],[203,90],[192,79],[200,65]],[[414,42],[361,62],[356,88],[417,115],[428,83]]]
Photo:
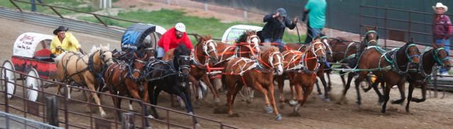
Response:
[[[409,94],[408,94],[408,103],[406,104],[406,112],[409,111],[409,104],[411,102],[424,102],[426,99],[426,85],[428,84],[428,78],[430,78],[430,73],[432,73],[432,66],[436,63],[442,68],[449,69],[452,65],[449,61],[449,56],[447,51],[444,49],[443,44],[441,46],[433,45],[433,49],[425,51],[420,57],[420,64],[418,65],[418,72],[409,72],[408,73],[408,82],[409,82]],[[412,92],[415,86],[422,86],[422,99],[413,98]]]

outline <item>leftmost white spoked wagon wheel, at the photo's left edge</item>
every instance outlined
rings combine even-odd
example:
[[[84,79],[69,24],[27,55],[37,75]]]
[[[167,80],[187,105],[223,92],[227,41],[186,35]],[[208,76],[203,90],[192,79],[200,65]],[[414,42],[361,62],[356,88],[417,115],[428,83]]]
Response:
[[[1,69],[0,78],[3,80],[6,80],[6,78],[8,78],[8,82],[6,83],[2,81],[0,84],[1,85],[0,89],[4,91],[6,83],[6,87],[8,87],[7,97],[8,99],[11,99],[11,97],[13,97],[12,94],[16,94],[16,74],[13,73],[13,71],[16,71],[16,68],[14,68],[13,63],[11,63],[11,61],[8,60],[4,61],[3,67],[4,68]]]

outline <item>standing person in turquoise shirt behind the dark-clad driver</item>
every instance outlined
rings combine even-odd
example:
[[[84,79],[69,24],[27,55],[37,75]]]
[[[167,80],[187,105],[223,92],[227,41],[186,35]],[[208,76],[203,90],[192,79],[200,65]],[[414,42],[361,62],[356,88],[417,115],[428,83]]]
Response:
[[[311,42],[316,36],[321,34],[321,31],[326,25],[326,0],[309,0],[304,9],[302,21],[306,20],[306,14],[309,15],[309,20],[306,25],[305,43]]]

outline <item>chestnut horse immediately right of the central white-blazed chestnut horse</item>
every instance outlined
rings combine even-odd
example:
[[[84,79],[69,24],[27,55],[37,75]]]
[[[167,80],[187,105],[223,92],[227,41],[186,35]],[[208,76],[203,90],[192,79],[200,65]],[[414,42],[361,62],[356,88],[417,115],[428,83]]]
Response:
[[[294,113],[297,113],[299,108],[304,105],[313,90],[316,73],[321,68],[319,62],[326,59],[325,49],[326,46],[318,38],[313,40],[309,46],[306,46],[304,52],[294,50],[283,52],[285,70],[288,73],[290,85],[295,86],[295,91],[297,92],[298,101],[294,107]],[[279,90],[280,94],[283,94],[283,87],[280,85],[280,82]]]

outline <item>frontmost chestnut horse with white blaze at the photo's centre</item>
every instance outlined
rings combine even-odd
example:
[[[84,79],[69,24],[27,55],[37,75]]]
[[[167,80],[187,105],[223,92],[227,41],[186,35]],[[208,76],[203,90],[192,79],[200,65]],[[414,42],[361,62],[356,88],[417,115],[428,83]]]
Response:
[[[263,93],[265,111],[267,113],[274,112],[276,115],[275,119],[280,121],[282,116],[275,104],[273,74],[276,72],[278,75],[282,75],[282,65],[282,54],[277,47],[271,46],[261,48],[258,59],[237,58],[228,61],[222,81],[228,88],[226,100],[229,106],[229,116],[235,116],[233,114],[234,99],[239,90],[245,85]]]

